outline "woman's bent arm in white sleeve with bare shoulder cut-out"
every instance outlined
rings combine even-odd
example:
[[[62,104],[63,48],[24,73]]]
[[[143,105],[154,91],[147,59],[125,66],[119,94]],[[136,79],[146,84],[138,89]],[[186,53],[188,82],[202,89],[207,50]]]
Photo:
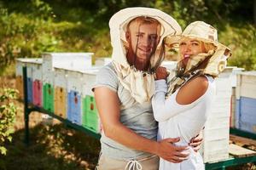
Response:
[[[178,113],[193,108],[206,93],[208,87],[207,77],[195,77],[186,82],[177,92],[165,99],[167,92],[166,80],[155,82],[155,94],[152,99],[154,118],[158,122],[164,122]]]

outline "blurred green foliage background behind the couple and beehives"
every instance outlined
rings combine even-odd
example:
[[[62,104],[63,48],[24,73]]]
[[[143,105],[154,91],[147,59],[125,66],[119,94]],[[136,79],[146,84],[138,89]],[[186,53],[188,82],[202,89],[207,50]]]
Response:
[[[236,0],[9,0],[0,2],[0,75],[16,58],[39,57],[43,52],[93,52],[111,54],[108,20],[121,8],[151,7],[171,14],[184,28],[204,20],[218,28],[219,39],[230,44],[230,65],[255,69],[250,24],[253,1]],[[26,5],[24,5],[26,4]],[[239,12],[239,15],[237,15]],[[243,23],[244,26],[238,26]],[[238,26],[239,29],[236,29]],[[249,28],[249,29],[247,29]],[[248,31],[252,30],[252,31]],[[239,37],[240,42],[236,40]],[[248,39],[243,38],[248,37]],[[235,41],[234,41],[235,39]],[[226,43],[227,42],[227,43]],[[236,48],[233,48],[236,47]],[[247,50],[246,47],[252,47]],[[247,57],[241,58],[241,54]],[[252,65],[250,64],[252,63]]]

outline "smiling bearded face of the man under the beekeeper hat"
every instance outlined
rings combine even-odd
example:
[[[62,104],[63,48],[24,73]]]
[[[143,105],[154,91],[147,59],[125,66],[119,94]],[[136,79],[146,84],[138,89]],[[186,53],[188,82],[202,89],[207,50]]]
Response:
[[[126,39],[137,62],[147,63],[160,40],[160,26],[157,23],[132,22]]]

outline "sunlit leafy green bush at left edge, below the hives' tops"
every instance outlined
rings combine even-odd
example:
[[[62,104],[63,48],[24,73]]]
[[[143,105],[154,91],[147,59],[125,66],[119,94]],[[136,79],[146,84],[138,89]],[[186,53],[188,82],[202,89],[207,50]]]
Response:
[[[0,95],[0,154],[6,155],[4,143],[11,142],[11,134],[14,133],[13,125],[17,108],[13,99],[16,98],[17,90],[5,88],[2,91]]]

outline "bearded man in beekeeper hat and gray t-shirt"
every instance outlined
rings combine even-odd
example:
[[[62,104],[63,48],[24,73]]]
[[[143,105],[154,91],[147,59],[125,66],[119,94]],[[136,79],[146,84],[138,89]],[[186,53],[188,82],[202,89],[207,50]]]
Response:
[[[163,40],[180,34],[180,26],[154,8],[125,8],[109,26],[113,62],[99,71],[94,87],[103,127],[97,168],[156,170],[158,156],[172,162],[187,159],[187,147],[173,144],[179,139],[156,141],[150,101],[154,71],[165,55]]]

